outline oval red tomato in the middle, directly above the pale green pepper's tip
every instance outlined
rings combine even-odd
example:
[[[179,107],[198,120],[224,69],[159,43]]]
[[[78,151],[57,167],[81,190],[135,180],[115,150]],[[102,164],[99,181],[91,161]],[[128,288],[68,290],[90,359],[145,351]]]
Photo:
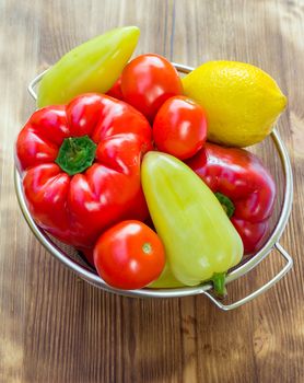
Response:
[[[153,138],[159,150],[186,160],[196,154],[207,138],[206,114],[185,96],[167,100],[157,112]]]

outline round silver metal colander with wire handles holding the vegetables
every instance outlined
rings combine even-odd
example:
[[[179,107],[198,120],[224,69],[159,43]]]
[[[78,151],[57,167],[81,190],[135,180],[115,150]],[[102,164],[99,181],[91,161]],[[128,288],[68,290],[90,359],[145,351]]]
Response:
[[[173,63],[175,68],[180,73],[188,73],[194,68],[187,67],[179,63]],[[46,71],[45,71],[46,72]],[[37,76],[28,85],[28,92],[34,100],[37,98],[35,93],[35,85],[40,81],[44,73]],[[262,144],[265,147],[262,147]],[[89,283],[94,285],[95,287],[115,292],[121,295],[128,297],[141,297],[141,298],[180,298],[187,295],[197,295],[204,294],[207,295],[218,307],[221,310],[232,310],[243,305],[244,303],[253,300],[258,297],[270,287],[272,287],[276,282],[278,282],[292,267],[293,260],[291,256],[287,253],[287,251],[279,244],[279,240],[284,231],[284,228],[288,223],[288,219],[291,212],[292,207],[292,198],[293,198],[293,179],[292,179],[292,169],[290,159],[288,155],[288,151],[284,147],[282,139],[280,138],[279,132],[274,129],[270,137],[265,140],[265,143],[255,146],[253,151],[259,153],[268,153],[267,159],[271,159],[273,161],[271,164],[268,164],[269,169],[277,170],[276,173],[279,174],[279,179],[277,181],[278,185],[278,201],[274,209],[274,214],[272,218],[272,231],[269,235],[267,242],[264,244],[262,248],[250,257],[245,257],[243,262],[234,267],[232,270],[227,272],[226,283],[234,281],[237,278],[246,275],[253,268],[255,268],[264,258],[266,258],[272,249],[277,249],[285,264],[283,268],[268,282],[264,286],[252,292],[250,294],[242,298],[238,301],[235,301],[231,304],[225,304],[224,301],[219,300],[215,295],[212,294],[212,285],[211,283],[202,283],[196,287],[180,287],[174,289],[139,289],[139,290],[118,290],[110,286],[108,286],[97,274],[96,271],[90,267],[81,257],[81,255],[72,247],[68,246],[55,239],[52,239],[48,233],[46,233],[43,229],[40,229],[35,221],[33,220],[23,193],[22,179],[15,169],[14,171],[14,181],[15,181],[15,192],[16,197],[22,210],[22,213],[30,225],[30,229],[40,242],[40,244],[57,259],[59,259],[63,265],[66,265],[69,269],[75,272],[80,278],[86,280]],[[269,155],[269,150],[273,151],[273,155]],[[279,169],[278,169],[279,166]]]

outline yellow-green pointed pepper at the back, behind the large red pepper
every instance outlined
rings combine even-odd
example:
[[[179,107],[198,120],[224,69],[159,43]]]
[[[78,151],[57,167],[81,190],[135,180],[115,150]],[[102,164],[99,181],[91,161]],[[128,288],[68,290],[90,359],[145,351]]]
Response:
[[[137,26],[125,26],[70,50],[43,77],[38,107],[67,104],[82,93],[107,92],[131,57],[139,34]]]

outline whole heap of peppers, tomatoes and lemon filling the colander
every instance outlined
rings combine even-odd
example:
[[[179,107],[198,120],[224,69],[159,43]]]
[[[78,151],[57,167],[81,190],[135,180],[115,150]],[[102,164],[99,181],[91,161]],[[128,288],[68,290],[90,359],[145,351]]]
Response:
[[[162,56],[129,61],[138,38],[110,31],[44,76],[16,140],[28,209],[115,288],[213,281],[224,294],[227,270],[265,243],[276,197],[241,148],[271,132],[285,97],[243,62],[180,79]]]

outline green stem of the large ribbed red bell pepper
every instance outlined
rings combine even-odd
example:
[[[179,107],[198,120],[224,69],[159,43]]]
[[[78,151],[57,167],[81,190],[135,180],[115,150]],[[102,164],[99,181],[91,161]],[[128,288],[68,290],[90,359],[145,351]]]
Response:
[[[82,173],[92,165],[96,148],[89,136],[66,138],[55,162],[69,175]]]

